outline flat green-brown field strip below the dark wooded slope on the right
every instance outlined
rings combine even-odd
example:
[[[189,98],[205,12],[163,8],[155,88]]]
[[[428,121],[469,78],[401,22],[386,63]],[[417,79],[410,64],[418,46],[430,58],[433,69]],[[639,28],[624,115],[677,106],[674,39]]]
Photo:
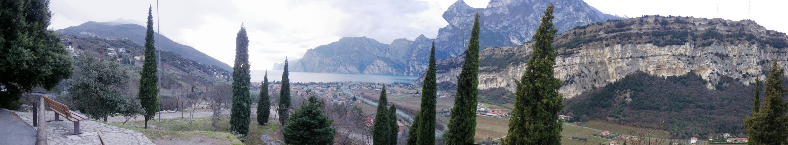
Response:
[[[615,125],[611,123],[605,123],[601,121],[588,121],[585,122],[583,127],[591,128],[591,129],[600,129],[609,132],[616,132],[622,133],[626,135],[632,136],[641,136],[641,134],[650,134],[651,137],[656,138],[666,138],[668,132],[664,130],[657,130],[657,129],[643,129],[643,128],[636,128],[626,125]]]

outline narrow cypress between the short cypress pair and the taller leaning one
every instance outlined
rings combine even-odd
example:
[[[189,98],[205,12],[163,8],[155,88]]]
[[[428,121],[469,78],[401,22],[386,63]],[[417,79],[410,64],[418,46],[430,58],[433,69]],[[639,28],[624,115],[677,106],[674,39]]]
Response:
[[[435,144],[435,109],[437,105],[437,78],[435,77],[436,64],[435,64],[435,42],[429,53],[429,67],[427,67],[427,74],[424,76],[424,85],[422,85],[424,92],[422,95],[422,105],[419,109],[419,115],[422,115],[422,125],[418,129],[418,144],[430,145]]]

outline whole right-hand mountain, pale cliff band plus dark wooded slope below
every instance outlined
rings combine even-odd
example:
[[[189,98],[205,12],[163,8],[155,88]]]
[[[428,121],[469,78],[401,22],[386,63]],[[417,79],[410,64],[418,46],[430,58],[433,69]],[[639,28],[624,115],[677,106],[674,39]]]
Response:
[[[531,45],[481,50],[480,102],[511,106]],[[750,115],[755,78],[765,80],[774,61],[788,64],[788,36],[753,20],[609,20],[557,34],[553,46],[564,113],[664,129],[670,138],[745,136],[742,120]],[[463,59],[437,60],[439,88],[455,86]]]

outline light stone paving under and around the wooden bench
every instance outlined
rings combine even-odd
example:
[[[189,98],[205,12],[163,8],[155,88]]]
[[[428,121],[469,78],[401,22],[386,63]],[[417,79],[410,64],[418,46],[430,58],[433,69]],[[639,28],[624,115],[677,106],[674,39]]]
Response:
[[[32,112],[11,111],[17,114],[22,120],[27,121],[28,125],[33,125]],[[62,118],[62,116],[61,116]],[[39,121],[42,120],[39,118]],[[54,120],[54,112],[46,111],[46,119]],[[35,129],[38,129],[35,127]],[[151,139],[140,132],[134,130],[118,128],[113,125],[106,125],[97,121],[83,120],[80,121],[80,131],[82,134],[64,136],[65,133],[74,132],[74,123],[68,120],[65,121],[50,121],[46,122],[46,139],[50,145],[76,145],[76,144],[101,144],[99,134],[95,129],[99,129],[109,144],[134,144],[134,145],[151,145],[154,144]]]

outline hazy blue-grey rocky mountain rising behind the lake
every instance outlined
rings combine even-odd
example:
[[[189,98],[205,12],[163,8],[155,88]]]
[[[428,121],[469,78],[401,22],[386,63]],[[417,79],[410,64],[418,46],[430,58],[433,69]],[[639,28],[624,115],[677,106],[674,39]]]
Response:
[[[293,71],[327,72],[350,74],[397,74],[418,75],[426,70],[429,47],[435,42],[438,59],[452,58],[462,54],[467,48],[474,14],[481,13],[480,42],[486,46],[522,45],[532,40],[534,31],[539,27],[541,15],[553,2],[556,6],[553,19],[559,31],[572,27],[593,24],[608,19],[620,20],[618,16],[601,13],[582,0],[491,0],[487,8],[472,8],[462,0],[455,2],[443,14],[448,22],[440,28],[437,38],[419,36],[413,41],[396,39],[388,47],[369,45],[371,38],[342,38],[339,42],[318,46],[330,47],[331,51],[309,49],[303,60]],[[358,39],[358,40],[356,40]],[[364,40],[362,40],[364,39]],[[372,39],[374,40],[374,39]],[[358,44],[357,44],[358,43]],[[375,41],[375,43],[380,43]],[[359,48],[366,47],[366,48]],[[361,54],[353,49],[374,49],[374,53]],[[359,57],[348,57],[359,56]],[[365,62],[358,62],[364,60]],[[292,65],[292,64],[291,64]],[[319,67],[319,68],[313,68]]]

